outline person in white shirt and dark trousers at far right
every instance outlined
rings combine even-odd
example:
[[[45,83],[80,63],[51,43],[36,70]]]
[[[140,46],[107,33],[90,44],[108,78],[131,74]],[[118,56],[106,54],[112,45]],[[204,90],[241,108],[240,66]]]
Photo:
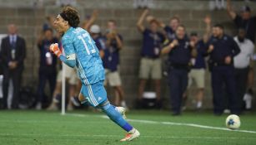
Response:
[[[238,36],[235,36],[233,39],[237,42],[241,50],[238,56],[233,58],[233,65],[235,68],[234,76],[236,80],[239,108],[242,109],[243,95],[246,92],[249,64],[253,56],[254,46],[252,41],[245,38],[245,30],[243,28],[239,28]]]

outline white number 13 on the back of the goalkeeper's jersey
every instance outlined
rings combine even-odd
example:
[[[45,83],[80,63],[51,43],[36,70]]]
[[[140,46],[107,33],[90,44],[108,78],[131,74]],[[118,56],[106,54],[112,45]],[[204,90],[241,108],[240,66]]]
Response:
[[[83,46],[86,52],[88,53],[88,55],[96,52],[92,38],[90,38],[88,34],[83,34],[81,36],[78,36],[78,39],[80,39],[83,42]]]

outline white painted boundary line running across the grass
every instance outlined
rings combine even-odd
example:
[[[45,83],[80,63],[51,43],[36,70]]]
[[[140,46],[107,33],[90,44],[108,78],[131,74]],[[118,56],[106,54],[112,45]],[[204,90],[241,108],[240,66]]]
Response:
[[[88,117],[88,115],[83,114],[68,114],[78,117]],[[108,116],[100,115],[101,118],[108,118]],[[173,122],[158,122],[158,121],[150,121],[150,120],[139,120],[139,119],[127,119],[130,122],[134,123],[158,123],[158,124],[165,124],[165,125],[178,125],[178,126],[188,126],[188,127],[194,127],[194,128],[208,128],[208,129],[215,129],[215,130],[224,130],[224,131],[231,131],[231,132],[240,132],[240,133],[256,133],[256,131],[250,131],[250,130],[231,130],[228,128],[218,128],[218,127],[211,127],[206,125],[200,125],[196,123],[173,123]]]

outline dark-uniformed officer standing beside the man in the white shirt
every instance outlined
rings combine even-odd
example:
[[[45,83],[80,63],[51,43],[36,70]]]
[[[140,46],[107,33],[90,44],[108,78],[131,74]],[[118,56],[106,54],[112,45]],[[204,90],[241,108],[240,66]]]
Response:
[[[223,86],[227,89],[228,100],[232,114],[239,114],[238,99],[235,92],[233,56],[240,52],[233,37],[223,32],[222,25],[213,27],[213,36],[208,41],[210,54],[209,67],[212,70],[213,112],[223,114]]]

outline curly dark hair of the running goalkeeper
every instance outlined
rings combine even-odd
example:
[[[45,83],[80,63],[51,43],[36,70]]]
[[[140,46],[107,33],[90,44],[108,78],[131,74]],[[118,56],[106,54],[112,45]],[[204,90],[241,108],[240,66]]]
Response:
[[[62,12],[60,13],[61,17],[64,20],[68,21],[70,27],[78,27],[80,18],[78,11],[73,7],[63,7]]]

